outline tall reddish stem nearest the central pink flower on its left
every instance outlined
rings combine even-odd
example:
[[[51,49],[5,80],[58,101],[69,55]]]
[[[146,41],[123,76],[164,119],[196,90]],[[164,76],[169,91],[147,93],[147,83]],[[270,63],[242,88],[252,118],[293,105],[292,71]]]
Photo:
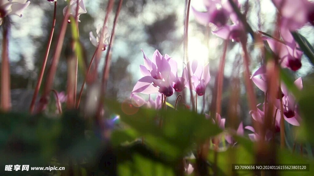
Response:
[[[101,92],[100,92],[100,99],[101,100],[104,100],[104,98],[106,96],[107,82],[108,82],[108,78],[109,78],[109,71],[110,71],[110,65],[111,65],[111,47],[112,47],[112,44],[113,44],[113,40],[115,38],[116,24],[117,24],[117,21],[118,21],[119,13],[121,11],[122,2],[123,2],[123,0],[119,1],[118,7],[116,9],[116,16],[115,16],[115,19],[113,21],[111,38],[110,38],[110,42],[109,42],[109,45],[108,45],[108,50],[107,50],[107,53],[106,53],[106,60],[105,60],[104,70],[103,70],[102,79],[101,79]],[[104,32],[104,29],[105,29],[105,26],[103,27],[103,32]],[[103,38],[103,37],[104,36],[103,36],[103,33],[102,33],[101,38]],[[102,39],[100,39],[100,41],[102,41]],[[99,43],[101,43],[101,42],[99,42]],[[98,45],[98,51],[96,53],[96,59],[97,59],[97,55],[99,53],[99,50],[101,49],[99,47],[100,47],[100,45]],[[97,113],[98,117],[100,117],[100,112],[101,112],[101,109],[102,109],[102,102],[103,101],[100,101],[100,103],[99,103],[98,113]]]

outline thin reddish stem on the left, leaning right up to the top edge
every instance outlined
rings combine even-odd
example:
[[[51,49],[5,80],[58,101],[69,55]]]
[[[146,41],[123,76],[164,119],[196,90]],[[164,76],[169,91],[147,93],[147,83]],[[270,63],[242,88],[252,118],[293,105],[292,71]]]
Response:
[[[49,40],[48,40],[48,45],[46,48],[44,62],[42,63],[41,71],[40,71],[39,77],[37,79],[37,84],[36,84],[36,88],[34,91],[33,99],[32,99],[32,102],[30,103],[30,113],[34,112],[36,98],[37,98],[37,95],[38,95],[38,92],[39,92],[39,89],[41,86],[42,78],[44,76],[44,72],[45,72],[45,68],[46,68],[46,64],[47,64],[47,60],[48,60],[48,55],[49,55],[49,51],[50,51],[51,41],[52,41],[52,37],[53,37],[54,30],[55,30],[55,25],[56,25],[56,13],[57,13],[57,1],[55,2],[55,7],[54,7],[54,11],[53,11],[52,26],[51,26],[51,31],[49,34]]]

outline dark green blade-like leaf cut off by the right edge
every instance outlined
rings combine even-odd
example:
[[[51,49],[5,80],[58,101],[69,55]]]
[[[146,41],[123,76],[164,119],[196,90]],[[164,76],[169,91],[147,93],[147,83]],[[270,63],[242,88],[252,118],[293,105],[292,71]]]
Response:
[[[311,44],[306,40],[304,36],[297,32],[292,32],[293,38],[300,45],[300,48],[304,52],[304,54],[309,58],[312,65],[314,65],[314,49]]]

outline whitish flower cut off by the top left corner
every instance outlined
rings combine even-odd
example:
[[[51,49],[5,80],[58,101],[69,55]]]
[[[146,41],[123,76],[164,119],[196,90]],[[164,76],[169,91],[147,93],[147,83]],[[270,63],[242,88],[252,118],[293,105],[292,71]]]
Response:
[[[0,25],[7,15],[22,17],[22,12],[30,4],[28,0],[0,0]]]

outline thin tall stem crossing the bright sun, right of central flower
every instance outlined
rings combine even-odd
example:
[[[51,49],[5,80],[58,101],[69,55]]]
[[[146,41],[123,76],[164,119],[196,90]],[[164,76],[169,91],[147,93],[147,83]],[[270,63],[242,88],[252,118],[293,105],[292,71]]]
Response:
[[[189,31],[189,14],[190,14],[190,4],[191,0],[188,1],[187,3],[187,17],[185,19],[185,58],[187,61],[187,73],[189,75],[189,86],[190,86],[190,96],[191,96],[191,102],[192,102],[192,110],[195,111],[195,102],[193,98],[193,92],[192,92],[192,80],[191,80],[191,68],[190,68],[190,62],[189,62],[189,54],[188,54],[188,31]]]

